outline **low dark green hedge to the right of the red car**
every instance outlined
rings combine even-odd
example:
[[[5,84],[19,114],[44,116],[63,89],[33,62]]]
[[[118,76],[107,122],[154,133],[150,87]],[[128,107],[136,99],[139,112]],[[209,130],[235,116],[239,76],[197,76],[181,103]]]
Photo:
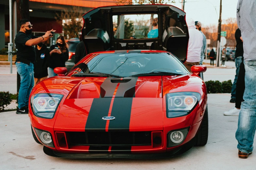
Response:
[[[207,93],[231,93],[232,82],[231,80],[223,81],[206,81]]]

